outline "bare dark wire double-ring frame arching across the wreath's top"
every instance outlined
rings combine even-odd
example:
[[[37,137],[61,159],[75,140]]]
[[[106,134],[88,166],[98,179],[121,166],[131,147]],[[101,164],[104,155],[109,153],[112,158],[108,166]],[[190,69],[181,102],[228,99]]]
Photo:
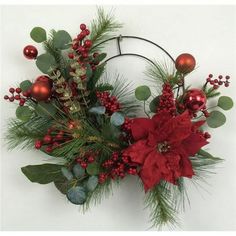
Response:
[[[108,42],[108,41],[116,40],[116,42],[117,42],[117,47],[118,47],[118,54],[115,55],[115,56],[112,56],[112,57],[110,57],[110,58],[108,58],[108,59],[106,59],[105,62],[108,62],[108,61],[110,61],[110,60],[112,60],[112,59],[114,59],[114,58],[121,57],[121,56],[136,56],[136,57],[140,57],[140,58],[145,59],[146,61],[150,62],[151,64],[153,64],[153,65],[155,66],[155,63],[154,63],[151,59],[149,59],[149,58],[147,58],[147,57],[145,57],[145,56],[143,56],[143,55],[136,54],[136,53],[122,53],[122,50],[121,50],[121,41],[122,41],[123,39],[138,39],[138,40],[142,40],[142,41],[148,42],[148,43],[150,43],[150,44],[156,46],[157,48],[159,48],[161,51],[163,51],[163,52],[171,59],[171,61],[172,61],[173,63],[175,63],[174,58],[173,58],[163,47],[161,47],[160,45],[154,43],[154,42],[151,41],[151,40],[148,40],[148,39],[145,39],[145,38],[141,38],[141,37],[137,37],[137,36],[129,36],[129,35],[124,35],[124,36],[123,36],[123,35],[119,35],[119,36],[117,36],[117,37],[112,37],[112,38],[106,39],[106,40],[102,41],[101,43],[95,45],[93,48],[96,48],[96,47],[98,47],[98,46],[100,46],[100,45],[102,45],[102,44],[104,44],[104,43],[106,43],[106,42]]]

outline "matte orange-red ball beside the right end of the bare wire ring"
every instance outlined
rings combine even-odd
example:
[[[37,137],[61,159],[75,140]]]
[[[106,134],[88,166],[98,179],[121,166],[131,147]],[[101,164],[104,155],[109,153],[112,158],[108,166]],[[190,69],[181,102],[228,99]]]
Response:
[[[175,60],[175,67],[177,71],[183,74],[190,73],[195,68],[195,58],[188,53],[183,53]]]

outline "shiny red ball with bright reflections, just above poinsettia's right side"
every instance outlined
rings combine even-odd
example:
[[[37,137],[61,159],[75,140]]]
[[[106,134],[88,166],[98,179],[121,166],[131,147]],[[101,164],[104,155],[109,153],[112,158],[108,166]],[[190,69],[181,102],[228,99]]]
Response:
[[[190,89],[184,97],[184,105],[187,109],[197,112],[206,105],[206,95],[200,89]]]

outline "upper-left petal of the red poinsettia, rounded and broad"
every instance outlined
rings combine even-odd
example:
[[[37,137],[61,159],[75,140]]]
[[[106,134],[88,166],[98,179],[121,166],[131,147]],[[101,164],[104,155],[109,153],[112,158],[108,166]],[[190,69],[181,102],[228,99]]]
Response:
[[[145,139],[149,131],[154,130],[154,122],[148,118],[136,118],[131,123],[131,132],[135,141]]]

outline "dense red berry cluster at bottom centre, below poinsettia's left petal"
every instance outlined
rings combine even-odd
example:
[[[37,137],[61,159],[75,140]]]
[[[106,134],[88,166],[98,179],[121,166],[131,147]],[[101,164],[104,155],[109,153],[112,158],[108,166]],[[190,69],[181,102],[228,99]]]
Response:
[[[102,167],[105,171],[99,174],[99,183],[103,183],[108,178],[124,178],[127,174],[138,174],[137,164],[133,163],[128,156],[118,152],[113,152],[111,159],[103,162]]]

